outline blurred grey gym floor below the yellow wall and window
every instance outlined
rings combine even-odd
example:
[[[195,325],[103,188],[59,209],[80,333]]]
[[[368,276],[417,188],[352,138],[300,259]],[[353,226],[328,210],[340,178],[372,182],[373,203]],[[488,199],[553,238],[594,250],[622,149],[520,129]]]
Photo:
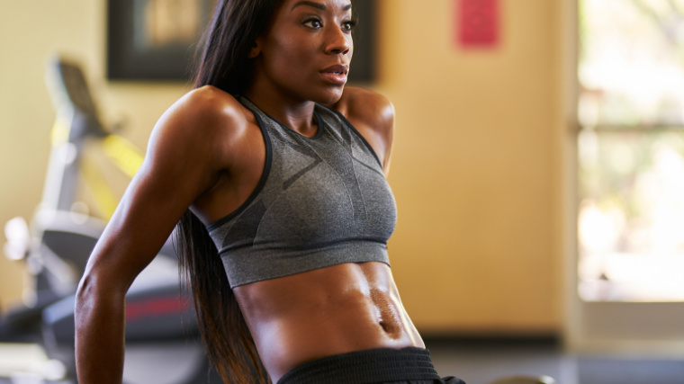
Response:
[[[457,376],[468,384],[486,384],[518,375],[550,376],[557,384],[684,384],[684,360],[571,355],[563,353],[560,343],[552,337],[426,338],[425,341],[439,374]],[[74,383],[16,376],[0,378],[0,384]]]

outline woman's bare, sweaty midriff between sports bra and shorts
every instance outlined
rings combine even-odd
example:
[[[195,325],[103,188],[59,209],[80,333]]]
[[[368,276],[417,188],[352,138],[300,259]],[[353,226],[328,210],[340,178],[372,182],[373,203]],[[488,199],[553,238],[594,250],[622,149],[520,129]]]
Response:
[[[384,263],[344,263],[234,292],[273,382],[333,354],[425,347]]]

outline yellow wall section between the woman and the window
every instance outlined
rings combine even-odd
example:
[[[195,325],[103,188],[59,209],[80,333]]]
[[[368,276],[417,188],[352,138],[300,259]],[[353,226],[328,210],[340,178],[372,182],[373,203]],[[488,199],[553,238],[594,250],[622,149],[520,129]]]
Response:
[[[455,46],[454,4],[385,2],[395,278],[424,330],[558,329],[557,2],[501,1],[489,51]]]

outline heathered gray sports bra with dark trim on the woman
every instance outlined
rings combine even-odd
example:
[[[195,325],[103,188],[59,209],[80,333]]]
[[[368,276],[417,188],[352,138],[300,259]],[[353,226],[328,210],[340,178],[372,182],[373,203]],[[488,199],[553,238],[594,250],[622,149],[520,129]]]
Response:
[[[238,97],[257,117],[266,165],[238,210],[207,226],[230,287],[339,263],[390,264],[397,210],[383,167],[360,133],[316,104],[307,138]]]

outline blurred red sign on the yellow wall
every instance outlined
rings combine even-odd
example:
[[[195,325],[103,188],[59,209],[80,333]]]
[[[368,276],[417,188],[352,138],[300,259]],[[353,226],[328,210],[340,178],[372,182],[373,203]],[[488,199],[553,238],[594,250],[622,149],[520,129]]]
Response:
[[[500,0],[455,0],[456,41],[464,48],[492,48],[500,39]]]

